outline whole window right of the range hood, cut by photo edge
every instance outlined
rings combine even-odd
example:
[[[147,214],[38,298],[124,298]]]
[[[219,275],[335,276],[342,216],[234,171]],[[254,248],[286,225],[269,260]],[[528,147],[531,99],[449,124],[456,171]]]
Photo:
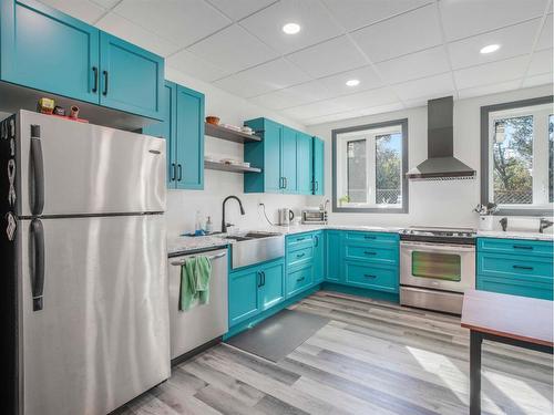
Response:
[[[481,111],[481,201],[495,203],[502,215],[544,215],[551,211],[552,96],[492,105]]]

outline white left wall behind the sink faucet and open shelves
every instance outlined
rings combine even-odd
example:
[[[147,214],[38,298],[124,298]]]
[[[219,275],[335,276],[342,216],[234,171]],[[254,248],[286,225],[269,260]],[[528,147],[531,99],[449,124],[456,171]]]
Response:
[[[217,115],[220,117],[222,123],[243,125],[243,122],[246,120],[265,116],[306,131],[304,125],[293,120],[254,105],[238,96],[171,68],[166,69],[165,77],[204,93],[206,97],[206,115]],[[205,153],[206,155],[214,154],[243,159],[243,145],[206,136]],[[227,203],[227,220],[243,229],[259,228],[267,224],[258,208],[258,203],[260,201],[266,205],[269,219],[276,221],[277,209],[279,207],[289,207],[299,214],[299,210],[306,205],[307,200],[306,196],[244,194],[242,174],[206,169],[204,173],[204,190],[168,190],[166,211],[168,237],[175,237],[183,231],[194,230],[197,210],[201,210],[204,217],[207,215],[212,216],[214,228],[218,230],[222,221],[222,203],[228,195],[236,195],[243,200],[246,210],[244,217],[240,216],[238,205],[235,200]]]

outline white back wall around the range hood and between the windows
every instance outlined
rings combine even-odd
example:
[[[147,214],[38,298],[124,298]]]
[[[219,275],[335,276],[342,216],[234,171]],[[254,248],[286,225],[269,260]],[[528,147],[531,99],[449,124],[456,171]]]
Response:
[[[408,214],[338,214],[329,220],[348,225],[476,227],[472,210],[480,201],[480,108],[483,105],[552,94],[552,85],[454,101],[454,155],[478,170],[475,180],[410,181]],[[314,125],[308,131],[326,141],[326,196],[331,198],[331,129],[408,117],[409,168],[427,158],[427,107]],[[310,199],[312,197],[309,197]]]

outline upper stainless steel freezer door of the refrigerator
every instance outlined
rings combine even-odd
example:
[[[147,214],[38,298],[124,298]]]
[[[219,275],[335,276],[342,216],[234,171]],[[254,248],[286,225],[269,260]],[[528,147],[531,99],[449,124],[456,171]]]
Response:
[[[165,139],[28,111],[17,128],[20,216],[165,210]]]

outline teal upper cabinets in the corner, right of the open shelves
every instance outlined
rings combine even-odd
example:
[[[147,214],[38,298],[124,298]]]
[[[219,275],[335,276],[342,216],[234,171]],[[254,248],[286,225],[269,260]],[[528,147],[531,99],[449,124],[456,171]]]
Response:
[[[250,120],[245,125],[261,137],[244,147],[245,162],[261,168],[261,173],[244,175],[245,193],[322,195],[321,139],[268,118]]]

